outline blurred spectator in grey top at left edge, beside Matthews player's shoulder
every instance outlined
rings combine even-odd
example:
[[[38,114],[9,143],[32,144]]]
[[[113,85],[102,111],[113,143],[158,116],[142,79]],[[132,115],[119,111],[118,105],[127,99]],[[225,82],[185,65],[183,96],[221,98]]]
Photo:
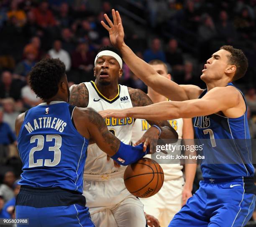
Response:
[[[13,98],[6,98],[2,100],[4,115],[3,121],[6,122],[11,130],[15,132],[15,119],[20,115],[20,112],[15,111],[15,102]]]

